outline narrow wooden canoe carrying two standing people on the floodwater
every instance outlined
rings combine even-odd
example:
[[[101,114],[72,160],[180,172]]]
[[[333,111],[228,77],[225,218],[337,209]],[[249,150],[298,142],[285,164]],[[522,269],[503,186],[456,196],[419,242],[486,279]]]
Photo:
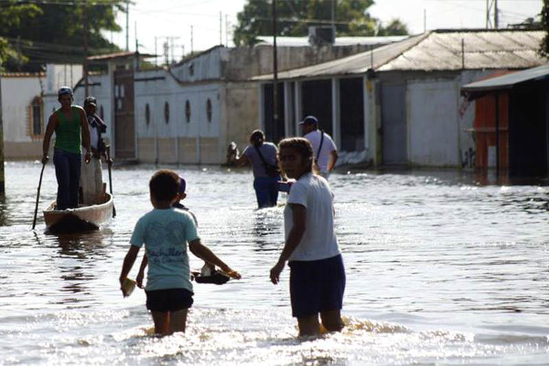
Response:
[[[113,217],[113,196],[105,192],[102,203],[76,209],[57,210],[56,201],[44,210],[46,228],[50,233],[79,233],[97,230]]]

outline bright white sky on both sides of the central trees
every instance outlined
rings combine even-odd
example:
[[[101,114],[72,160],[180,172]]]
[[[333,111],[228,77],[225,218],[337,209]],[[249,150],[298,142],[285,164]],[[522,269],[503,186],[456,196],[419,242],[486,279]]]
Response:
[[[163,54],[167,42],[170,59],[180,60],[191,51],[208,49],[220,42],[233,46],[231,30],[237,13],[247,0],[133,0],[129,16],[129,48],[135,50],[135,30],[139,52]],[[278,0],[283,1],[283,0]],[[307,1],[307,0],[303,0]],[[493,0],[488,0],[493,3]],[[498,0],[500,27],[521,23],[541,11],[542,0]],[[372,16],[388,23],[398,18],[410,34],[447,28],[486,27],[487,0],[376,0],[369,8]],[[221,15],[220,15],[221,14]],[[221,20],[221,22],[220,22]],[[493,22],[493,10],[491,12]],[[117,14],[123,32],[105,32],[108,39],[126,48],[126,14]],[[192,32],[191,32],[192,27]],[[221,34],[220,34],[221,27]],[[227,32],[229,30],[229,32]],[[172,38],[167,38],[172,37]]]

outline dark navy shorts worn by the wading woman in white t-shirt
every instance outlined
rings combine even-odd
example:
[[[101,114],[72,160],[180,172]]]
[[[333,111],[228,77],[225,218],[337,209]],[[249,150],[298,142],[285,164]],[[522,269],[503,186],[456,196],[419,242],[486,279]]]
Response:
[[[288,265],[292,317],[310,317],[342,308],[345,268],[340,254],[324,260],[294,260]]]

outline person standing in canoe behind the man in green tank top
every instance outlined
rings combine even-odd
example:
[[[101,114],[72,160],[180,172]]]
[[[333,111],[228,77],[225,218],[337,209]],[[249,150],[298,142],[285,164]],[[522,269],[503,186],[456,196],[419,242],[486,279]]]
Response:
[[[91,141],[91,161],[89,164],[82,164],[82,174],[80,185],[82,186],[82,203],[84,205],[94,205],[103,202],[103,176],[101,167],[101,157],[108,164],[111,163],[105,143],[101,137],[106,132],[106,124],[95,114],[97,110],[97,100],[94,97],[88,97],[84,100],[84,111],[88,119]],[[86,148],[83,148],[86,152]]]

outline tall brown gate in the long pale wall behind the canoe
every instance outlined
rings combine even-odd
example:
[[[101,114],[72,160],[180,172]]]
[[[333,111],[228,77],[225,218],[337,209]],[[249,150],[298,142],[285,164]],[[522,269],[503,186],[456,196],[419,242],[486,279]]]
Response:
[[[135,159],[133,70],[115,70],[114,80],[115,157]]]

